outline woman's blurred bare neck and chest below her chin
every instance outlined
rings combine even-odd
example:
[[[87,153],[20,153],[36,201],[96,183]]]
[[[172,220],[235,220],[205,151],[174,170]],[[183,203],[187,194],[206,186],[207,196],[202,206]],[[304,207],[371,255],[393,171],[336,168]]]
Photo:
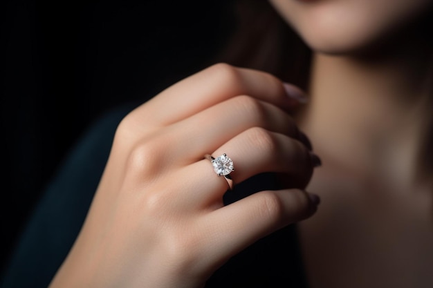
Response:
[[[314,65],[299,119],[324,162],[308,186],[320,209],[300,223],[311,287],[432,287],[433,184],[423,177],[432,171],[420,161],[431,102],[422,93],[410,104],[391,99],[407,87],[385,67],[324,55]],[[407,74],[400,68],[396,79]]]

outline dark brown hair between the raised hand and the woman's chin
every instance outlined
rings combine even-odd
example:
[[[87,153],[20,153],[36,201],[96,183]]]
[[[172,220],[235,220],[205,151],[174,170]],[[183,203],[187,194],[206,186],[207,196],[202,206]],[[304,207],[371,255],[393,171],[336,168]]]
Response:
[[[221,61],[264,70],[306,88],[311,51],[268,1],[237,0],[234,31]]]

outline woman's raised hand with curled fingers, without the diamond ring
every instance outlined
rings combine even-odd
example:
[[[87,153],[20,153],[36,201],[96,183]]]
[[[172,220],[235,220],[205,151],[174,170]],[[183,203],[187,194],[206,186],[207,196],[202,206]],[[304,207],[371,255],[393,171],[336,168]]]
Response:
[[[314,157],[292,107],[275,77],[217,64],[129,113],[51,287],[202,287],[241,249],[312,215],[317,202],[302,189]],[[223,153],[234,185],[276,172],[290,189],[224,206],[227,183],[204,159]]]

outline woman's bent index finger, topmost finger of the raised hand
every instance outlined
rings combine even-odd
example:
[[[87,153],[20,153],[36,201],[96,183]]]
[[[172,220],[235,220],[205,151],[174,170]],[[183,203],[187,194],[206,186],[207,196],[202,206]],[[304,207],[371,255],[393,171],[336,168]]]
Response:
[[[142,123],[169,125],[231,97],[249,95],[290,111],[290,99],[277,77],[259,70],[215,64],[163,90],[137,109]]]

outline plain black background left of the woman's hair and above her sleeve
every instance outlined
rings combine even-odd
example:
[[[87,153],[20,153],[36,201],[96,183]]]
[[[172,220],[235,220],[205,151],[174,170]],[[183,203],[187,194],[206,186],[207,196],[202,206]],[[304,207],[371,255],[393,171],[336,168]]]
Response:
[[[0,1],[1,268],[86,127],[219,61],[232,1]]]

